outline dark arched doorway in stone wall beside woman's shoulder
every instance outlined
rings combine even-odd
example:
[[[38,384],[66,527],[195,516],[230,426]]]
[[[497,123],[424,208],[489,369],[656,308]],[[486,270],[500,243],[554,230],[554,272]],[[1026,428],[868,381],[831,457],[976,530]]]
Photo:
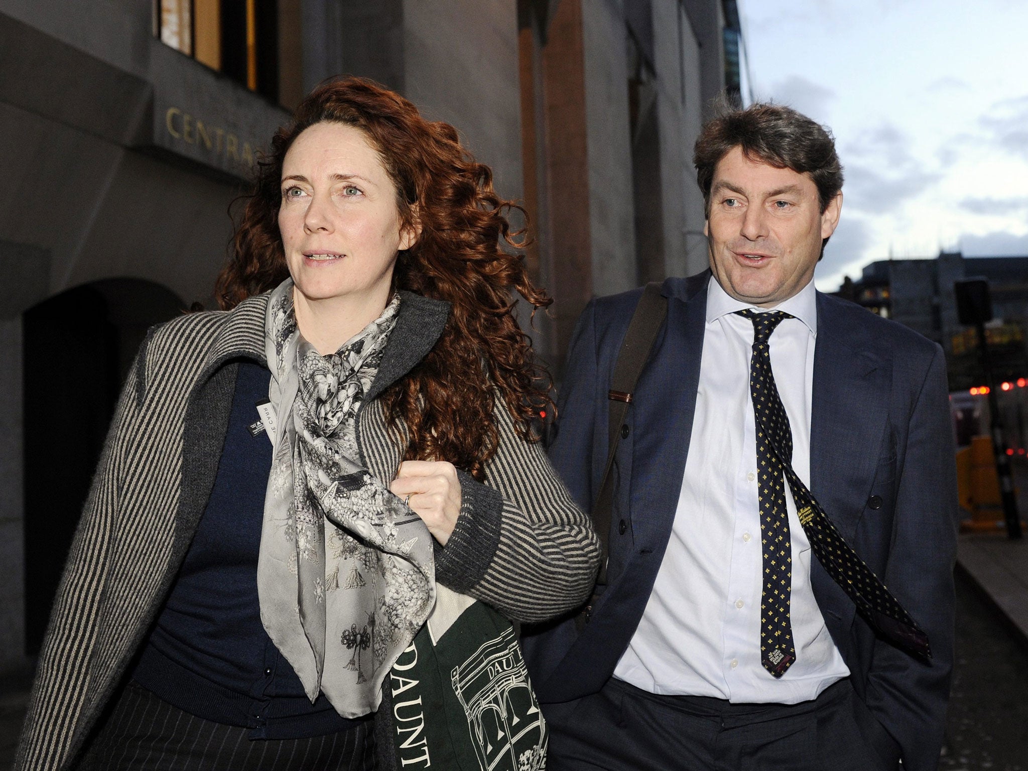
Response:
[[[23,315],[26,653],[38,653],[118,393],[146,331],[183,311],[170,289],[106,279]]]

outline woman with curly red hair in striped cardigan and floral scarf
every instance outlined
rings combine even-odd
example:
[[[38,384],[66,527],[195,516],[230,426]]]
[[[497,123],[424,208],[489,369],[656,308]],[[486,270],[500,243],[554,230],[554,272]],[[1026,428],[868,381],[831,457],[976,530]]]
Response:
[[[511,208],[399,95],[350,78],[304,100],[223,309],[136,360],[16,768],[395,767],[425,743],[392,725],[414,702],[390,706],[415,635],[475,600],[514,622],[581,603],[597,542],[534,431],[549,380],[513,293],[550,300],[504,249]],[[542,768],[536,720],[511,763]]]

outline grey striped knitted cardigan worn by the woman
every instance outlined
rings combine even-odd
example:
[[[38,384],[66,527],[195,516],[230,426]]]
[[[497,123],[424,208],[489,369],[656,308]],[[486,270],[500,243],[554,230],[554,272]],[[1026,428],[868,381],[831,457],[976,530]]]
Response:
[[[238,362],[266,366],[266,303],[260,295],[228,313],[184,316],[143,343],[53,603],[14,769],[72,767],[123,680],[214,485]],[[362,460],[384,483],[403,447],[376,397],[432,350],[448,314],[445,302],[403,293],[358,415]],[[542,448],[517,437],[501,400],[495,420],[500,444],[486,484],[461,473],[461,515],[436,551],[437,580],[513,621],[542,621],[585,598],[597,541]],[[376,733],[391,741],[380,726]]]

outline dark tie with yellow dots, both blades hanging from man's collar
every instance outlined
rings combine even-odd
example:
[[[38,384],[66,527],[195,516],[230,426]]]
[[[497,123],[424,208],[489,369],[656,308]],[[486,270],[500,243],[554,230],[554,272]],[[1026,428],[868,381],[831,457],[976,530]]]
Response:
[[[788,619],[792,550],[782,476],[788,482],[797,516],[824,571],[849,596],[873,629],[903,650],[931,658],[928,636],[871,568],[847,544],[807,486],[793,471],[793,431],[771,371],[768,340],[784,319],[781,310],[739,310],[752,322],[749,394],[757,418],[758,500],[761,510],[764,593],[761,599],[761,663],[780,677],[796,661]]]

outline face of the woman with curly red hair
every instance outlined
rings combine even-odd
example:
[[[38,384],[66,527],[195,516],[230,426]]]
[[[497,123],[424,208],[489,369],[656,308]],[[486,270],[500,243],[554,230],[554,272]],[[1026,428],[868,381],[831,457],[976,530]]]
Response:
[[[386,302],[397,251],[413,245],[378,152],[359,128],[328,121],[286,153],[279,230],[296,290],[310,301]]]

